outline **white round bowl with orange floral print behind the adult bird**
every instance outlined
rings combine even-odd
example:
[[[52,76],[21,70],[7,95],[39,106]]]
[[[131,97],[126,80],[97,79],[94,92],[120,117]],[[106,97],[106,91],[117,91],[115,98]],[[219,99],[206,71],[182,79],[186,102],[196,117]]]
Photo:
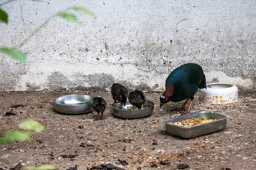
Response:
[[[204,103],[227,104],[238,100],[238,88],[229,83],[210,83],[201,89],[200,99]]]

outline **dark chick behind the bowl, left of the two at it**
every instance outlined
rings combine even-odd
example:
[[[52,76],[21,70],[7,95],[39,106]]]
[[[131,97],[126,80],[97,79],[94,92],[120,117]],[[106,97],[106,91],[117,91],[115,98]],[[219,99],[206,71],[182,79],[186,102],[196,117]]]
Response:
[[[125,106],[128,96],[128,90],[126,87],[119,83],[114,83],[111,87],[111,95],[113,96],[115,103],[120,101],[121,104],[124,104]]]

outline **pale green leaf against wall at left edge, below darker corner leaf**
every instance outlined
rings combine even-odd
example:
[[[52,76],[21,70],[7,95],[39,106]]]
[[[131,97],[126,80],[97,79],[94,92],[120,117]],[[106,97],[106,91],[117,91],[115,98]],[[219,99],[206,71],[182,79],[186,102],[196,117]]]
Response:
[[[20,61],[22,63],[26,62],[27,55],[22,51],[18,51],[16,49],[11,49],[7,47],[1,47],[0,51],[2,51],[2,53],[6,54],[8,57],[11,57],[12,59]]]

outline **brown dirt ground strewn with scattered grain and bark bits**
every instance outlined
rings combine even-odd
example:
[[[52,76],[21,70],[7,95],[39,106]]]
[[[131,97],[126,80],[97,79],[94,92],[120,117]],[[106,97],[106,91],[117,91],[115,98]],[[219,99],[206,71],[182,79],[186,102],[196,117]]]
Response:
[[[108,103],[105,119],[95,121],[96,112],[81,115],[57,113],[53,109],[52,100],[67,94],[102,96]],[[199,101],[198,92],[191,112],[216,111],[230,115],[231,119],[227,120],[224,130],[192,139],[175,137],[165,131],[164,124],[160,122],[179,116],[178,112],[170,110],[181,106],[182,102],[170,102],[160,109],[160,94],[145,93],[147,100],[155,104],[150,116],[121,119],[112,113],[109,104],[114,101],[109,92],[0,93],[1,136],[5,130],[18,130],[18,124],[26,119],[34,119],[45,126],[45,130],[34,133],[30,141],[0,145],[0,169],[10,169],[19,162],[23,166],[51,164],[60,170],[69,169],[76,164],[78,170],[84,170],[106,163],[127,170],[176,170],[181,163],[189,165],[186,170],[255,169],[256,91],[240,90],[237,102],[222,105]],[[6,116],[5,113],[11,109],[16,115]],[[80,146],[81,143],[85,147]],[[75,157],[63,158],[60,156],[63,154]],[[118,159],[125,160],[128,164]]]

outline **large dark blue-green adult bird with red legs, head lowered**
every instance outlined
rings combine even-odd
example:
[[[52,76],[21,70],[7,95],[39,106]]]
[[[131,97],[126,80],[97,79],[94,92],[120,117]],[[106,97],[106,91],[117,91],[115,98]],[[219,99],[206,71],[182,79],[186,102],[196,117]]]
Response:
[[[169,101],[179,102],[186,99],[181,108],[174,110],[183,110],[182,115],[188,114],[194,101],[194,94],[197,92],[198,88],[206,89],[206,80],[202,67],[194,63],[183,64],[173,70],[166,78],[165,91],[160,96],[160,107]],[[190,104],[186,111],[185,106],[189,99]]]

